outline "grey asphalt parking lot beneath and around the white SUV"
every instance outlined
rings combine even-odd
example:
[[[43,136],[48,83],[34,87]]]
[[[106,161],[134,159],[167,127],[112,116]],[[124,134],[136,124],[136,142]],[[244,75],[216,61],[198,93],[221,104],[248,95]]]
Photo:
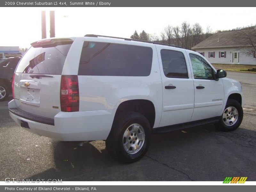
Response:
[[[240,128],[220,132],[206,125],[153,135],[146,156],[133,164],[116,162],[104,141],[80,147],[27,132],[10,118],[8,100],[0,102],[0,180],[221,181],[238,176],[255,181],[256,74],[228,72],[228,77],[243,87]]]

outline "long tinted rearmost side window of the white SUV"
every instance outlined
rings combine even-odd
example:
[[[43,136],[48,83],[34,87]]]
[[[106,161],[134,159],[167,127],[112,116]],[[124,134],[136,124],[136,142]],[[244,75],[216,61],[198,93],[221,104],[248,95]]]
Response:
[[[85,41],[78,75],[149,76],[152,56],[150,47]]]

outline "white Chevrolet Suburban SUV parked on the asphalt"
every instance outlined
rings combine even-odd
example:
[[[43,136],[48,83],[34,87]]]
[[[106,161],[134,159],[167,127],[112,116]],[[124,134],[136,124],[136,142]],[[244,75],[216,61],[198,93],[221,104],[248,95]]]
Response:
[[[135,162],[151,133],[243,119],[241,84],[199,53],[159,43],[86,35],[34,42],[13,77],[10,116],[24,129],[63,141],[106,140]]]

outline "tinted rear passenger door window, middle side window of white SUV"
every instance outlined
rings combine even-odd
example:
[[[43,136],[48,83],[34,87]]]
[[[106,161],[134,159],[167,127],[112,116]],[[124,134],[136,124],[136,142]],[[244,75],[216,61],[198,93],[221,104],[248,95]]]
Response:
[[[182,52],[161,50],[164,75],[173,78],[188,78],[186,61]]]

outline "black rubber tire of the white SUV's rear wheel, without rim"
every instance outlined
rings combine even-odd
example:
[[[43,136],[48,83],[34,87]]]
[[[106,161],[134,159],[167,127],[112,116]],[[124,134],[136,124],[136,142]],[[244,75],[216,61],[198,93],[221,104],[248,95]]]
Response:
[[[145,139],[143,145],[135,154],[129,154],[124,149],[124,132],[132,124],[143,127]],[[131,131],[132,134],[132,131]],[[130,138],[130,137],[129,137]],[[115,118],[111,131],[106,140],[106,148],[111,156],[122,163],[133,163],[140,160],[147,152],[151,140],[151,126],[148,119],[137,112],[126,112]],[[130,142],[130,141],[129,141]]]

